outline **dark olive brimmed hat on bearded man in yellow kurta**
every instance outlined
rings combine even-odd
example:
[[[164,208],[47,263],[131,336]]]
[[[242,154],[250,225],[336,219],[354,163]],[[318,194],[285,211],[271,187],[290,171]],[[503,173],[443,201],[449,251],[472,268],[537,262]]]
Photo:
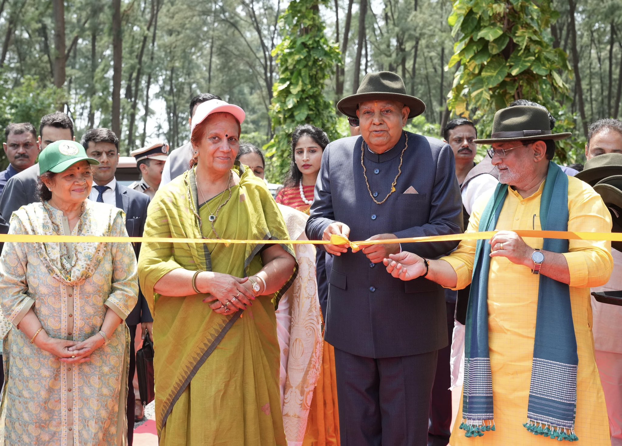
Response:
[[[550,139],[559,141],[572,136],[570,132],[550,131],[549,112],[531,105],[502,108],[494,114],[493,133],[490,138],[475,139],[477,144],[494,142],[531,141]]]

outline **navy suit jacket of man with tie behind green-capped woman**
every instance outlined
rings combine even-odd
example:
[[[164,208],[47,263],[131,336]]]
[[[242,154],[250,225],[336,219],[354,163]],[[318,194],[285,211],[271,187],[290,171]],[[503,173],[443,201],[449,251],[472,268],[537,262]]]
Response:
[[[115,194],[116,207],[123,209],[125,212],[125,227],[128,230],[128,236],[142,237],[142,231],[147,220],[147,207],[151,199],[146,194],[137,192],[119,183],[117,183],[115,188]],[[138,254],[141,252],[141,244],[132,243],[132,245],[134,246],[136,259],[138,259]],[[142,291],[139,290],[138,302],[134,310],[126,318],[126,323],[128,325],[137,325],[141,322],[153,322],[153,318],[149,312],[147,300],[142,295]]]

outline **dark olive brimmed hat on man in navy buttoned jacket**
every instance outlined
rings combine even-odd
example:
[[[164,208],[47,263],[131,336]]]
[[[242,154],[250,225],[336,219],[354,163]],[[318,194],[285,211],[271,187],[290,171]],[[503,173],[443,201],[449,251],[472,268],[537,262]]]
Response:
[[[337,103],[337,109],[350,118],[358,118],[356,116],[358,105],[363,101],[374,99],[404,103],[411,109],[408,119],[419,116],[425,111],[424,101],[415,98],[415,96],[407,95],[404,81],[399,75],[392,72],[366,74],[358,90],[356,90],[356,95],[343,98]]]

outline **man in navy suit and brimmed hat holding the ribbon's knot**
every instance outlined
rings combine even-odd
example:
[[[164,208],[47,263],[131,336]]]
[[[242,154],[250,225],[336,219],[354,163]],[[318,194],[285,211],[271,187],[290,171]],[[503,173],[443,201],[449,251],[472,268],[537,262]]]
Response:
[[[369,73],[338,109],[360,119],[360,136],[326,147],[309,239],[394,239],[462,232],[462,201],[450,147],[403,130],[425,110],[402,79]],[[427,444],[437,351],[447,346],[445,295],[426,279],[387,277],[383,258],[414,249],[437,258],[457,242],[373,244],[333,254],[325,338],[335,346],[341,444]]]

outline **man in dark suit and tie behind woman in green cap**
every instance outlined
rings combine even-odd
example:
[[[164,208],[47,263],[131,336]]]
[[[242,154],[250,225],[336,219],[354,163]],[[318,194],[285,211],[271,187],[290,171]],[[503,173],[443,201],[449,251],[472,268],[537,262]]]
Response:
[[[119,138],[109,129],[99,128],[86,131],[80,142],[86,149],[86,154],[100,162],[93,169],[93,189],[89,198],[100,203],[108,203],[114,207],[123,209],[126,214],[125,226],[130,237],[142,237],[145,221],[147,220],[147,206],[150,198],[141,192],[132,190],[119,184],[114,178],[119,162]],[[139,243],[134,243],[136,258],[141,250]],[[136,327],[139,323],[146,327],[151,335],[153,318],[147,307],[142,292],[139,291],[138,302],[134,310],[126,318],[129,327],[130,351],[129,351],[129,379],[128,379],[128,444],[132,444],[134,434],[134,411],[136,407],[136,395],[132,381],[136,371],[136,354],[134,352],[134,339]],[[142,406],[141,406],[142,409]]]

